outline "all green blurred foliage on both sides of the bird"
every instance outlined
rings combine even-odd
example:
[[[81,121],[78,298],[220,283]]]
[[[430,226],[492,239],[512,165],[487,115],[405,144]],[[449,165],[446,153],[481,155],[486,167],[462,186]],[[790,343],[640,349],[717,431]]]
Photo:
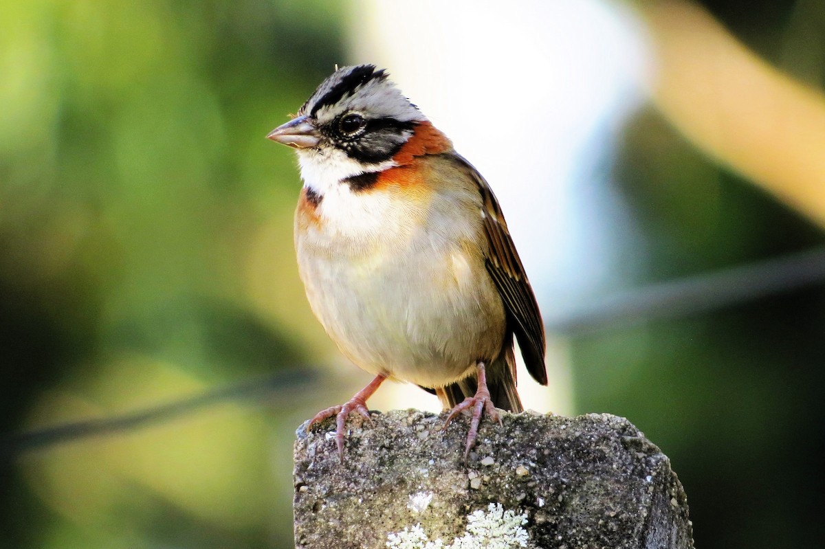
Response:
[[[821,2],[703,4],[823,86]],[[0,2],[0,546],[292,547],[294,430],[364,378],[313,374],[333,349],[295,268],[295,161],[263,136],[347,62],[350,8]],[[626,287],[825,243],[652,107],[618,139],[647,246]],[[815,547],[823,328],[820,283],[576,331],[575,410],[672,458],[697,547]],[[17,436],[247,382],[140,428]]]

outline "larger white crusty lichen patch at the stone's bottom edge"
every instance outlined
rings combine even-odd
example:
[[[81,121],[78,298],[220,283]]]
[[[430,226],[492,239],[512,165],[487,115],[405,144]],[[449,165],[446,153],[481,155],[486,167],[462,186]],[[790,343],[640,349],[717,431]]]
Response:
[[[389,549],[516,549],[527,547],[527,514],[504,510],[501,504],[491,503],[487,511],[481,509],[467,516],[467,529],[450,545],[441,539],[431,541],[421,524],[405,527],[401,532],[387,536]]]

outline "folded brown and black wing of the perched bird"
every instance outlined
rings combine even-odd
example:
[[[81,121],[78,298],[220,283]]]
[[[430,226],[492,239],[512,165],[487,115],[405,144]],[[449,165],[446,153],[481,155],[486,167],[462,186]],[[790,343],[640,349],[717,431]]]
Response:
[[[484,232],[489,242],[487,270],[507,309],[508,329],[516,335],[527,371],[535,381],[547,385],[547,369],[544,367],[546,343],[539,304],[535,301],[535,294],[530,287],[530,281],[527,280],[524,265],[521,265],[516,246],[507,230],[502,209],[490,185],[479,171],[464,157],[458,154],[455,157],[479,186],[484,213]]]

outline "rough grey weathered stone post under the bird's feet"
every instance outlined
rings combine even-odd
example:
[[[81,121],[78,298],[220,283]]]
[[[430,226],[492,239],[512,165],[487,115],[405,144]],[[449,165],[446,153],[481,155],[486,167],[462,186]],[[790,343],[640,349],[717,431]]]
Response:
[[[693,547],[669,460],[628,420],[525,412],[502,421],[482,422],[466,464],[466,418],[441,430],[444,415],[420,411],[363,424],[351,416],[343,465],[332,420],[309,433],[304,424],[295,547],[383,548],[388,533],[416,524],[450,547],[468,514],[490,503],[526,514],[528,547]]]

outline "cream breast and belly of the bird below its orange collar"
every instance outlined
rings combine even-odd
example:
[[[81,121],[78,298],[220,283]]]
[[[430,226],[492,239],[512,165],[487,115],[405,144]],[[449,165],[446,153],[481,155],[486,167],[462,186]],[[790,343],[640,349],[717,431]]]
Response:
[[[295,246],[309,303],[361,368],[438,387],[500,352],[504,310],[474,200],[398,182],[301,200]]]

